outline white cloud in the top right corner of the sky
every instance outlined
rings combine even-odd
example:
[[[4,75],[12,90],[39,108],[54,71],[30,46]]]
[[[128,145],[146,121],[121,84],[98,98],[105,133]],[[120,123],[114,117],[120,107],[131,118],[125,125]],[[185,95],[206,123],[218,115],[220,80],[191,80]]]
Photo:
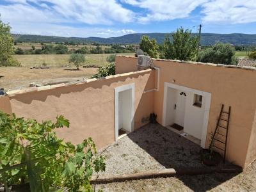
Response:
[[[204,22],[243,24],[256,22],[255,0],[212,0],[203,5]]]

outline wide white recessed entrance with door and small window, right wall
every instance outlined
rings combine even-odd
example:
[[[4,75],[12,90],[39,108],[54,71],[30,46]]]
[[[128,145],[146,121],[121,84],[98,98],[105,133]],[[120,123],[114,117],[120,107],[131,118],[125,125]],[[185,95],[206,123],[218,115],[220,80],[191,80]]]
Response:
[[[164,83],[163,125],[205,148],[211,93]]]

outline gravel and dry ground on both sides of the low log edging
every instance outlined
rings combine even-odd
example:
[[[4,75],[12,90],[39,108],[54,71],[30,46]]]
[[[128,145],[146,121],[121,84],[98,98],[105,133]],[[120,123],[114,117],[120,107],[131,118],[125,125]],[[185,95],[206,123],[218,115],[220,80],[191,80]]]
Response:
[[[206,168],[200,162],[200,149],[161,125],[147,125],[100,151],[107,164],[106,172],[100,175],[164,168]],[[256,162],[243,173],[132,180],[98,184],[95,188],[103,191],[256,191]]]

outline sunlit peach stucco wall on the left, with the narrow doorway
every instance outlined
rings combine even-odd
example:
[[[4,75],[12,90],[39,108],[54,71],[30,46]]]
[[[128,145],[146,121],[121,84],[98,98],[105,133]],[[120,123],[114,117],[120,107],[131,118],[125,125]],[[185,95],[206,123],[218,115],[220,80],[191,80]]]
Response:
[[[154,87],[152,70],[93,80],[95,79],[89,83],[10,95],[12,112],[38,121],[55,120],[57,115],[64,115],[70,120],[70,128],[59,129],[57,133],[60,138],[76,144],[91,136],[98,148],[115,141],[114,89],[117,86],[135,83],[135,129],[143,125],[143,116],[152,113],[154,95],[143,93],[146,88]],[[5,98],[8,100],[9,97]]]

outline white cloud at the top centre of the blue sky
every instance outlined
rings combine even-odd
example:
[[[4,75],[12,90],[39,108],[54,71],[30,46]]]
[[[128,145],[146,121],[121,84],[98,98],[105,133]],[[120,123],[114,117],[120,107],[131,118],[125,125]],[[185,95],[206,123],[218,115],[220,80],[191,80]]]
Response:
[[[207,0],[123,0],[122,2],[146,9],[146,15],[138,17],[139,22],[150,22],[152,20],[173,20],[189,16],[196,7],[207,2]]]

